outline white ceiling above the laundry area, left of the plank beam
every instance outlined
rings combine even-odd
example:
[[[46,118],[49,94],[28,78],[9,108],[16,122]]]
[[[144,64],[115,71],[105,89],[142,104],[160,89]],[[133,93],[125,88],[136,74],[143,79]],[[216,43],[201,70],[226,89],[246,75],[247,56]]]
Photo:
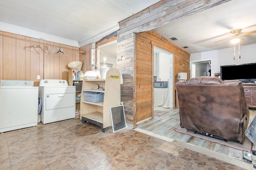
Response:
[[[81,42],[158,1],[1,0],[0,21]]]

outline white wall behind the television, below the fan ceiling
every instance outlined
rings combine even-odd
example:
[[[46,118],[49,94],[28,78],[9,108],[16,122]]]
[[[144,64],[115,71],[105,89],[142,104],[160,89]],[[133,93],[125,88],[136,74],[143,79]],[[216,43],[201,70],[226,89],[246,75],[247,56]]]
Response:
[[[220,66],[232,64],[256,63],[256,44],[240,47],[241,59],[238,59],[238,47],[236,47],[236,59],[234,60],[234,47],[194,53],[190,55],[190,61],[200,61],[212,59],[212,75],[220,72]],[[190,66],[191,70],[191,66]]]

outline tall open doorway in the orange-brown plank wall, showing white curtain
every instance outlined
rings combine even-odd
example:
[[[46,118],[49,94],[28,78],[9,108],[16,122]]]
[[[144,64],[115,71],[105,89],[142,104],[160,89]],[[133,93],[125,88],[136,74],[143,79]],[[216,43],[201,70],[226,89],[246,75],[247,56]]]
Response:
[[[174,71],[173,54],[154,46],[154,112],[174,108]],[[163,82],[164,87],[155,84]],[[167,86],[165,86],[167,84]]]

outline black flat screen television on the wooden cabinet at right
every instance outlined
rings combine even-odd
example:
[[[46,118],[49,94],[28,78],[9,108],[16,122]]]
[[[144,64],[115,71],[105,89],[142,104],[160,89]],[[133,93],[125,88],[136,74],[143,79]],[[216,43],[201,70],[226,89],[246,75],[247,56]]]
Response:
[[[220,78],[256,83],[256,63],[220,66]]]

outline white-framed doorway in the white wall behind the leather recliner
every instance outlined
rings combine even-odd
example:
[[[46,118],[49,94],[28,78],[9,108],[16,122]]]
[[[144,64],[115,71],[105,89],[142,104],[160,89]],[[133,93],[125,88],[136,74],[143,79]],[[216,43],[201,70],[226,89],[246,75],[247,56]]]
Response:
[[[191,78],[200,76],[212,76],[212,59],[190,61]]]

